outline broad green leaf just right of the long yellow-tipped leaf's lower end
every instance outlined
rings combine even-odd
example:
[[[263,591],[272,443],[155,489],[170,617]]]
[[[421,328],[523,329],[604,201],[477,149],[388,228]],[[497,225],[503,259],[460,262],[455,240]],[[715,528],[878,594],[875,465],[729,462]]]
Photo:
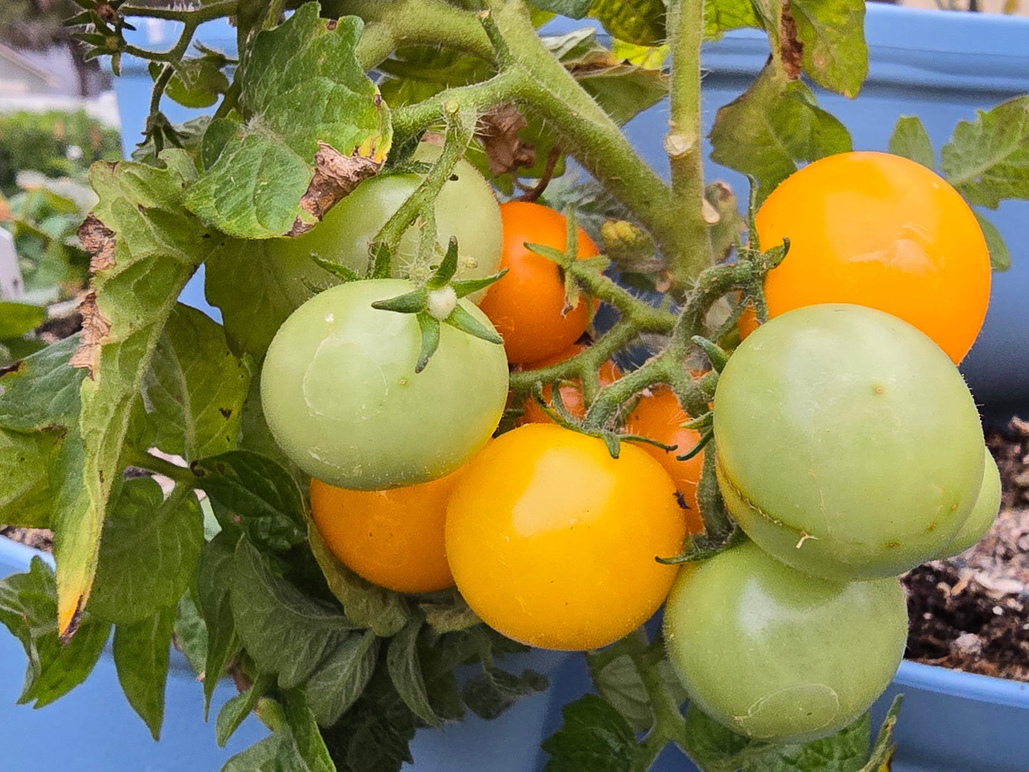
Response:
[[[121,486],[104,521],[90,609],[133,625],[174,606],[192,583],[204,543],[204,517],[192,491],[167,499],[151,478]]]

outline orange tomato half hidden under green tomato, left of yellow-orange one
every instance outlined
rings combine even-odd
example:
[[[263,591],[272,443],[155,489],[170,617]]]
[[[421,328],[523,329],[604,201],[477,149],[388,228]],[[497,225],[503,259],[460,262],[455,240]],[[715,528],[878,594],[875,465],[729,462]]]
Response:
[[[443,524],[463,467],[428,483],[352,491],[311,481],[311,517],[331,553],[368,582],[399,593],[454,586]]]

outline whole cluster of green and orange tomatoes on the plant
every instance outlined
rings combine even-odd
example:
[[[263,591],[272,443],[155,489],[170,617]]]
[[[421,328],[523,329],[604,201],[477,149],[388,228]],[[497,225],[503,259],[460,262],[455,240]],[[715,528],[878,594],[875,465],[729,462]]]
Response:
[[[679,568],[655,558],[680,554],[704,530],[705,452],[676,456],[702,442],[677,391],[653,384],[623,406],[616,457],[609,434],[605,443],[565,425],[590,407],[581,369],[542,384],[514,428],[494,436],[510,405],[509,367],[552,367],[586,351],[576,341],[595,302],[569,303],[559,265],[532,248],[566,250],[565,218],[536,204],[497,205],[461,167],[447,185],[486,190],[475,206],[503,239],[462,247],[477,256],[458,278],[506,273],[448,309],[458,303],[498,330],[502,347],[442,324],[416,370],[424,323],[372,307],[421,286],[426,267],[401,265],[397,278],[307,300],[269,349],[265,417],[313,478],[322,538],[394,591],[456,585],[487,624],[537,646],[606,645],[667,598],[669,656],[710,715],[767,740],[848,725],[902,655],[897,574],[973,543],[999,502],[996,465],[954,364],[982,322],[989,266],[967,207],[930,176],[877,153],[826,159],[758,212],[762,246],[790,247],[765,280],[771,320],[744,319],[749,335],[718,376],[706,451],[716,452],[706,490],[717,481],[746,538]],[[365,230],[340,236],[346,216],[327,218],[282,252],[284,270],[312,254],[360,270],[371,234],[406,196],[396,191],[417,184],[417,175],[362,183],[333,212],[363,207]],[[458,220],[436,218],[440,239],[467,227]],[[581,231],[576,243],[574,256],[598,253]],[[946,311],[927,313],[924,295],[945,291],[936,305]],[[958,295],[974,296],[961,305]],[[591,375],[601,387],[623,378],[611,361]],[[565,408],[557,422],[546,409],[555,388]]]

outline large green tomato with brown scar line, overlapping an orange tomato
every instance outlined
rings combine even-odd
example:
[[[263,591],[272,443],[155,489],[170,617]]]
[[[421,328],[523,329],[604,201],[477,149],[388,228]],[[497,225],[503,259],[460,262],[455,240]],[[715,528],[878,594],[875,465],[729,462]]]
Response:
[[[861,306],[808,306],[752,332],[718,380],[714,438],[743,530],[825,578],[893,576],[934,558],[983,481],[983,429],[954,363]]]

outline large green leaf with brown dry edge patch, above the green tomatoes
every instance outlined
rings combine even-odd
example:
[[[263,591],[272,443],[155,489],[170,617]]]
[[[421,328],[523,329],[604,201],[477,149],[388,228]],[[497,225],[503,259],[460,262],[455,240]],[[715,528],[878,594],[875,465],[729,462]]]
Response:
[[[232,236],[310,230],[389,150],[389,110],[355,56],[362,22],[319,19],[318,10],[306,3],[257,33],[237,74],[241,119],[186,194],[194,213]]]

